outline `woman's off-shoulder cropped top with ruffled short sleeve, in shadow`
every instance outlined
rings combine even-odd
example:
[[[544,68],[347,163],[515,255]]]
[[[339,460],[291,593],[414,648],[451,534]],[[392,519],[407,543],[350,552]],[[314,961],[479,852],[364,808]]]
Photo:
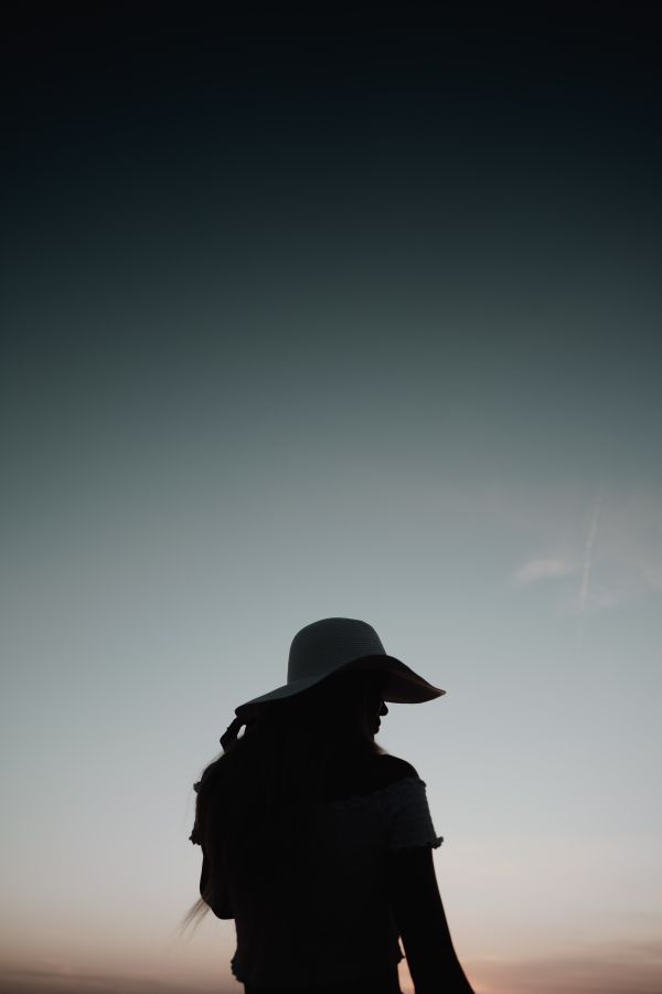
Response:
[[[410,771],[402,779],[314,805],[312,828],[296,844],[293,812],[284,839],[264,839],[276,877],[265,874],[261,886],[258,875],[250,888],[231,896],[237,934],[231,969],[241,983],[266,988],[342,983],[403,959],[386,892],[387,854],[437,848],[442,838],[433,825],[425,782],[399,762]]]

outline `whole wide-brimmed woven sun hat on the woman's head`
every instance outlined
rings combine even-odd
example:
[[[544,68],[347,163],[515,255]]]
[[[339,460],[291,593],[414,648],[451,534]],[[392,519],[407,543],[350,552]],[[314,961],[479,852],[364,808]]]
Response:
[[[287,667],[287,683],[235,708],[233,725],[258,717],[265,707],[309,690],[323,680],[352,669],[386,675],[382,697],[394,704],[423,704],[446,694],[409,666],[388,655],[376,631],[354,617],[324,617],[295,635]]]

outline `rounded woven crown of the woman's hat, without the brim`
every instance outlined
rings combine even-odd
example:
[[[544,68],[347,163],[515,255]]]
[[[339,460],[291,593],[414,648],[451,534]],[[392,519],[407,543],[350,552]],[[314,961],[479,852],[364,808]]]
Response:
[[[382,639],[367,622],[324,617],[306,625],[292,638],[287,681],[328,676],[352,659],[382,655],[386,655]]]

